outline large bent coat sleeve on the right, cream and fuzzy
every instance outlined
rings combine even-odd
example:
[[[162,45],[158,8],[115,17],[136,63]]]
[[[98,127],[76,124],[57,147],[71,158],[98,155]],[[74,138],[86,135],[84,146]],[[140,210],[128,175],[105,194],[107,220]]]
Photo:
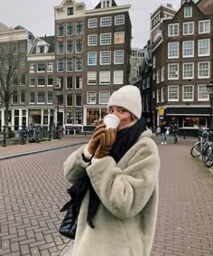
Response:
[[[148,140],[152,140],[149,138]],[[129,151],[125,169],[111,156],[94,159],[87,172],[106,209],[116,217],[131,218],[140,213],[158,185],[160,159],[153,142],[134,145]]]

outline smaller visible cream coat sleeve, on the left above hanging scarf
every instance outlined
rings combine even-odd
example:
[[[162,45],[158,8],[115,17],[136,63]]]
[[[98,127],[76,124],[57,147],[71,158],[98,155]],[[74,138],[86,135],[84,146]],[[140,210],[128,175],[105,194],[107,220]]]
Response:
[[[80,177],[82,177],[86,168],[88,167],[88,162],[85,162],[82,154],[84,152],[84,147],[79,147],[76,151],[74,151],[63,164],[64,168],[64,176],[69,181],[69,183],[74,184]]]

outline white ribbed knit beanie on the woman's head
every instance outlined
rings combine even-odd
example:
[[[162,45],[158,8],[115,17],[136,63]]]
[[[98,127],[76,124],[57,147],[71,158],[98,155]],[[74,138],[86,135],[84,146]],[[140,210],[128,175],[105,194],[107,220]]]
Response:
[[[125,85],[116,90],[108,100],[108,108],[111,106],[122,107],[137,119],[142,116],[142,99],[140,90],[134,85]]]

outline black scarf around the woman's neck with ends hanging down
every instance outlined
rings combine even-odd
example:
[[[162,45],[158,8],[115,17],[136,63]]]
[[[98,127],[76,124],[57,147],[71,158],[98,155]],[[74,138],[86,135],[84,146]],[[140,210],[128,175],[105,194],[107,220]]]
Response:
[[[116,132],[116,142],[110,152],[110,156],[115,159],[116,163],[125,155],[129,148],[134,146],[138,137],[140,137],[144,130],[146,130],[146,124],[142,118],[138,120],[132,127],[124,128]],[[95,226],[92,223],[92,218],[97,213],[100,199],[91,185],[87,172],[85,172],[85,175],[69,188],[69,194],[71,195],[72,202],[75,203],[76,208],[79,209],[79,206],[88,189],[89,202],[87,222],[91,228],[94,228]]]

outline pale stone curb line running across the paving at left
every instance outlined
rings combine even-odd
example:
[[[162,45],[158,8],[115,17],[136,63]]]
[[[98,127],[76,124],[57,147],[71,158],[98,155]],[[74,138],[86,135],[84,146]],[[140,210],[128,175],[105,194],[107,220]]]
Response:
[[[63,146],[58,146],[58,147],[47,147],[47,148],[38,149],[38,150],[34,150],[34,151],[23,152],[23,153],[20,153],[20,154],[14,154],[14,155],[9,155],[9,156],[1,156],[0,161],[5,160],[5,159],[14,158],[14,157],[19,157],[19,156],[28,156],[28,155],[38,154],[38,153],[42,153],[42,152],[46,152],[46,151],[57,150],[57,149],[60,149],[60,148],[65,148],[65,147],[74,147],[74,146],[83,145],[83,144],[86,144],[86,143],[87,142],[80,142],[80,143],[75,143],[75,144],[71,144],[71,145],[63,145]]]

